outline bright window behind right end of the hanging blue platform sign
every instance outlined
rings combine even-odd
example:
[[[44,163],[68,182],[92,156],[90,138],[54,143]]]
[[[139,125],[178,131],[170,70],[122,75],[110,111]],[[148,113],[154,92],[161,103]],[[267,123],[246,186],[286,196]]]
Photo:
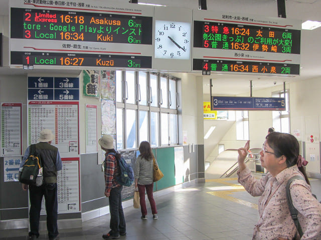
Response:
[[[290,107],[288,90],[272,92],[272,97],[284,97],[285,95],[285,110],[272,111],[273,127],[276,131],[290,133]]]

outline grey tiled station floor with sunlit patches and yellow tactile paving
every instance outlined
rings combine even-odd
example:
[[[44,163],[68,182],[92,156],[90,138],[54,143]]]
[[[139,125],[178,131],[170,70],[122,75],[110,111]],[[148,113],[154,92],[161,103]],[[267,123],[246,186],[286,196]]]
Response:
[[[312,179],[311,185],[321,199],[321,179]],[[258,218],[258,198],[242,189],[236,178],[212,179],[163,195],[154,193],[154,198],[157,220],[152,219],[150,208],[147,220],[140,219],[140,209],[124,208],[127,235],[120,239],[248,240]],[[60,239],[102,239],[108,231],[109,214],[83,222],[82,228],[60,230]],[[27,234],[27,229],[5,230],[0,232],[0,240],[27,239]],[[38,239],[46,239],[46,232]]]

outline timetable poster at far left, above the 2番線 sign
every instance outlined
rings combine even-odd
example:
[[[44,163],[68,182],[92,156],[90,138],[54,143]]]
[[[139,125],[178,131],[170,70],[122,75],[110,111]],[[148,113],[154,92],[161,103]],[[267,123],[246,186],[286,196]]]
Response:
[[[22,155],[22,103],[1,103],[1,156]]]

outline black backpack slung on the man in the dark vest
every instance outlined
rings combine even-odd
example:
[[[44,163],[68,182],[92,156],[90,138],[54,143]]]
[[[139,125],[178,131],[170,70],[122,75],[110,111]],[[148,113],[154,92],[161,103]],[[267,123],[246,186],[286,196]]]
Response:
[[[42,162],[36,152],[36,145],[30,145],[29,156],[19,172],[19,181],[30,185],[42,185]]]

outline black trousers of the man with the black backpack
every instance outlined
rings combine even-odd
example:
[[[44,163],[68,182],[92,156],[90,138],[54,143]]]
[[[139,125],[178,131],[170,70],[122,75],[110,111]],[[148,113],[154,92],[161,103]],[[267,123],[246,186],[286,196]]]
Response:
[[[49,238],[55,238],[58,235],[57,183],[47,183],[42,186],[29,185],[29,195],[31,204],[29,211],[29,235],[39,236],[41,201],[42,197],[45,196],[48,236]]]

